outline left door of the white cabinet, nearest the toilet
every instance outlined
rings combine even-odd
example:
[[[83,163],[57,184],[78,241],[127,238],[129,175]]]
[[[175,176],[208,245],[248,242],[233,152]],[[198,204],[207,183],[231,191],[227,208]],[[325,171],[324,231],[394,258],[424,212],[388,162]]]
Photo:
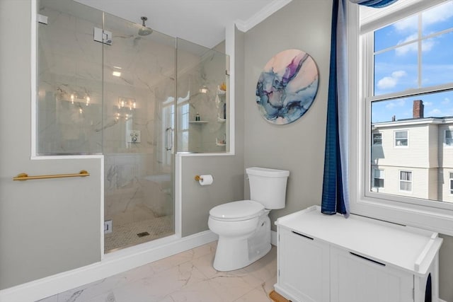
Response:
[[[293,301],[329,301],[329,246],[280,228],[279,286]]]

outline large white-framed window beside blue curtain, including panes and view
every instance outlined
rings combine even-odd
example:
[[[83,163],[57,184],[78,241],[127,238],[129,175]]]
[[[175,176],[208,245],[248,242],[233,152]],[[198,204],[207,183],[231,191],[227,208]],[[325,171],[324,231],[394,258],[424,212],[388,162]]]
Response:
[[[453,236],[453,1],[346,6],[351,211]]]

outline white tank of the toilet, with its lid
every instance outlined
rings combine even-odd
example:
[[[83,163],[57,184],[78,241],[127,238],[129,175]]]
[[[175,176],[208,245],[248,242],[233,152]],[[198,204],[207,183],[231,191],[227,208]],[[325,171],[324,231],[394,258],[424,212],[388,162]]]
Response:
[[[250,182],[250,199],[263,204],[265,209],[285,207],[287,170],[246,168]]]

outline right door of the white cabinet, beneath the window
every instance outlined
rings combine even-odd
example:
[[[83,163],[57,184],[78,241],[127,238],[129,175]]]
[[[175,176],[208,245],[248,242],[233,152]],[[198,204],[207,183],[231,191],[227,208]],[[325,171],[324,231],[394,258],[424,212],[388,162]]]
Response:
[[[331,246],[332,302],[412,302],[413,274]]]

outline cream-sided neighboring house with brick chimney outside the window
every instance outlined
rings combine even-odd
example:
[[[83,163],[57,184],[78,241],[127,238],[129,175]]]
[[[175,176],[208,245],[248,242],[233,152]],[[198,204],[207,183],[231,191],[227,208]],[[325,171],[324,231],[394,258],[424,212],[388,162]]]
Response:
[[[372,124],[371,190],[453,202],[453,117],[423,117]]]

